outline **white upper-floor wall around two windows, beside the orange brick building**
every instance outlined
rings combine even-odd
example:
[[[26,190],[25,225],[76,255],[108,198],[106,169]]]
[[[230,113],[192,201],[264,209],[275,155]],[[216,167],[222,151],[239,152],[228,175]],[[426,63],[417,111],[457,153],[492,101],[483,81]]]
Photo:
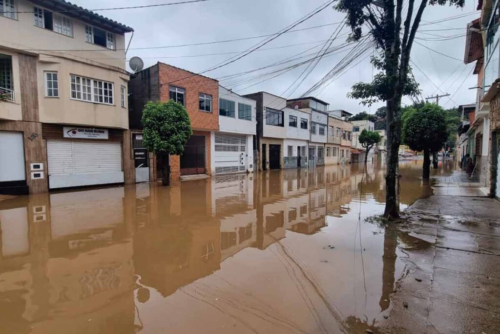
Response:
[[[257,119],[255,116],[255,100],[247,99],[237,95],[222,86],[219,86],[219,99],[229,100],[234,102],[235,116],[226,117],[219,115],[219,130],[220,132],[250,134],[256,133]],[[238,103],[243,103],[251,106],[251,121],[238,118]]]

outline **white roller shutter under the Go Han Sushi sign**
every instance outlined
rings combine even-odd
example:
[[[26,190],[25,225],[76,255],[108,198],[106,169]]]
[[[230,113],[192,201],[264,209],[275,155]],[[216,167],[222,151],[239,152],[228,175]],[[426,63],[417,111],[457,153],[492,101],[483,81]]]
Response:
[[[123,182],[121,142],[47,140],[51,189]]]

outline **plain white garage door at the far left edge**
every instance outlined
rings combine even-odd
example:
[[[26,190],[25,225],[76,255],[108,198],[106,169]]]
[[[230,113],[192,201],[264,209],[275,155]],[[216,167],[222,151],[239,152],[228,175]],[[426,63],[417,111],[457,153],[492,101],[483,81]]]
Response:
[[[0,182],[25,180],[22,132],[0,131]]]

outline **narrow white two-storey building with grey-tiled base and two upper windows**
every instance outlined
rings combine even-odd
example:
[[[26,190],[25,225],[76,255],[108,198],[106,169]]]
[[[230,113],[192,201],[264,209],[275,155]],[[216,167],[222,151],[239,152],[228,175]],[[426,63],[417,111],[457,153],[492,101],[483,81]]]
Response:
[[[307,141],[310,114],[297,109],[284,108],[286,138],[283,140],[283,167],[307,167]]]

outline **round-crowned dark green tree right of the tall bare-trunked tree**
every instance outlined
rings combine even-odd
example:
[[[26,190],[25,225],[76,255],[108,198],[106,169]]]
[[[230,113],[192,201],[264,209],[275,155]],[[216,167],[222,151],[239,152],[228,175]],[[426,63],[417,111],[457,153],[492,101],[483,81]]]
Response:
[[[423,151],[422,178],[428,179],[430,154],[439,151],[448,138],[444,110],[430,103],[408,108],[403,117],[401,135],[410,149]]]

